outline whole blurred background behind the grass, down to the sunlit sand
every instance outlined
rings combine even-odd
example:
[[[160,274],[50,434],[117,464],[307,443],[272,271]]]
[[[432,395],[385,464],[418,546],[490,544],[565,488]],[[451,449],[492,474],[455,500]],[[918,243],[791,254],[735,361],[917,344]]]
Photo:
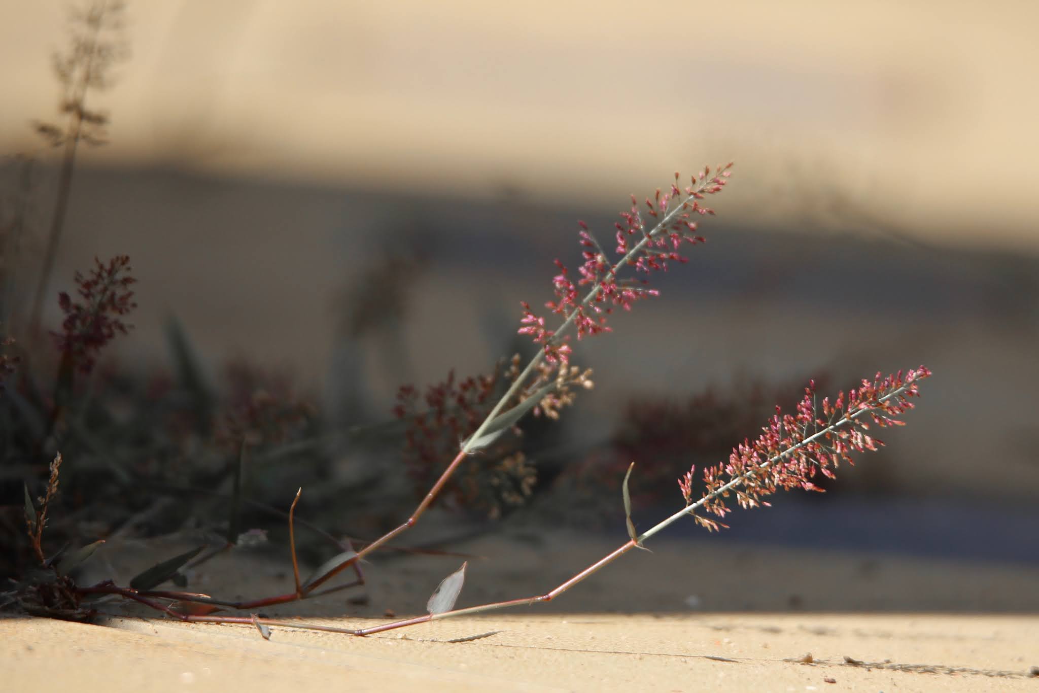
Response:
[[[46,294],[95,256],[131,257],[139,308],[107,358],[176,371],[176,324],[204,377],[234,359],[283,374],[322,435],[392,420],[401,384],[529,354],[520,301],[552,298],[553,259],[579,263],[578,219],[608,239],[630,193],[736,161],[709,242],[654,277],[659,299],[577,346],[595,389],[528,434],[531,505],[490,512],[497,540],[542,567],[496,585],[551,587],[566,541],[623,540],[631,459],[646,528],[681,503],[661,489],[690,462],[722,458],[808,378],[835,392],[926,364],[888,449],[720,536],[670,530],[668,565],[727,568],[621,608],[1039,609],[1034,3],[140,1],[122,16],[110,83],[86,96],[108,141],[79,145]],[[4,246],[15,326],[59,187],[61,150],[33,123],[65,127],[51,56],[69,17],[64,2],[0,9],[0,213],[25,230]],[[57,328],[57,301],[43,310]],[[320,478],[401,475],[399,438],[351,445],[322,448]],[[268,484],[272,503],[314,482],[304,461]],[[358,503],[329,522],[374,536],[389,521]],[[443,512],[425,540],[488,529],[485,512]],[[799,587],[820,565],[843,587]],[[618,584],[628,569],[611,568]],[[734,580],[768,595],[735,596]]]

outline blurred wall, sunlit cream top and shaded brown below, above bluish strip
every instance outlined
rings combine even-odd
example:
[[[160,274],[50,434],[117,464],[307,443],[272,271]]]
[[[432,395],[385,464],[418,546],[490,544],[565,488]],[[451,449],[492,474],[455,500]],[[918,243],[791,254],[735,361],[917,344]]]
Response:
[[[367,345],[379,367],[347,383],[382,416],[401,381],[508,348],[577,218],[608,233],[629,192],[736,159],[692,267],[580,353],[598,390],[578,430],[633,392],[926,363],[913,433],[869,483],[1033,501],[1036,7],[135,2],[53,290],[128,252],[125,352],[161,358],[177,315],[212,359],[286,363],[335,398],[338,297],[383,247],[421,245],[397,370]],[[38,152],[63,3],[0,11],[0,151]]]

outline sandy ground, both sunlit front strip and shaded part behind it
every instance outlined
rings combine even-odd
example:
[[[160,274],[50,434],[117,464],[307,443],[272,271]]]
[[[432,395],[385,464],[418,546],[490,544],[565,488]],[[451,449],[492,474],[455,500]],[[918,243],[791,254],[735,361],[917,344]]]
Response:
[[[612,543],[565,531],[459,542],[470,569],[458,606],[549,589]],[[180,548],[148,544],[154,556],[106,545],[91,564],[125,584],[134,563]],[[284,558],[221,557],[189,585],[224,597],[291,591]],[[393,620],[381,615],[391,607],[421,614],[460,560],[377,554],[364,590],[263,612],[345,628]],[[548,605],[367,638],[275,628],[265,641],[252,625],[143,618],[119,605],[91,625],[3,618],[0,688],[1034,691],[1036,584],[1039,568],[1027,565],[662,540]],[[808,652],[811,663],[799,661]]]

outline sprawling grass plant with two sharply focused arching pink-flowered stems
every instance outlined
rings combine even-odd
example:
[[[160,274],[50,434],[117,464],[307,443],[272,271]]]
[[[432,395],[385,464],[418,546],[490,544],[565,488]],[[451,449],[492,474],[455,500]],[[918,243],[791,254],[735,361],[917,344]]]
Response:
[[[247,399],[244,406],[233,409],[238,412],[237,418],[228,418],[231,423],[223,427],[224,431],[230,431],[224,439],[230,441],[235,459],[228,468],[233,475],[231,516],[222,544],[206,553],[205,547],[199,547],[174,556],[136,576],[128,586],[112,581],[79,585],[71,571],[86,560],[101,541],[90,542],[74,552],[59,552],[50,558],[46,557],[43,549],[48,511],[57,497],[62,460],[58,453],[50,468],[46,492],[34,503],[28,486],[25,488],[27,534],[36,566],[6,593],[7,602],[30,613],[89,618],[99,604],[99,597],[118,596],[180,620],[251,623],[264,637],[270,636],[270,627],[364,636],[442,618],[550,602],[633,549],[643,549],[647,540],[680,519],[691,517],[708,530],[719,530],[725,527],[721,519],[730,511],[732,500],[740,507],[753,508],[769,505],[764,499],[779,489],[822,490],[816,482],[820,478],[832,479],[833,470],[841,461],[851,461],[851,453],[876,450],[883,445],[873,436],[871,427],[904,423],[902,415],[912,408],[911,400],[918,394],[920,381],[930,375],[927,368],[886,377],[878,373],[847,393],[841,392],[833,399],[824,397],[821,402],[816,395],[815,382],[810,382],[793,414],[782,414],[776,407],[775,415],[766,422],[761,434],[753,441],[746,439],[739,444],[727,461],[709,465],[698,475],[695,467],[683,473],[677,478],[677,485],[684,505],[641,533],[636,531],[631,516],[630,481],[636,468],[636,463],[631,462],[621,484],[628,540],[548,592],[456,609],[455,604],[464,583],[467,565],[462,564],[444,580],[430,597],[428,613],[364,629],[314,625],[261,617],[256,613],[247,616],[217,613],[229,609],[256,611],[364,584],[361,561],[388,548],[418,524],[465,462],[479,464],[481,456],[515,434],[529,415],[557,418],[560,409],[574,402],[578,392],[591,388],[590,372],[571,364],[571,338],[576,336],[577,340],[583,340],[608,332],[612,329],[608,319],[617,308],[629,311],[638,301],[659,294],[648,288],[647,277],[656,271],[666,270],[669,264],[685,263],[687,259],[681,250],[704,241],[698,235],[699,217],[713,215],[714,211],[703,207],[701,201],[724,189],[730,167],[731,164],[728,164],[713,171],[704,167],[685,187],[680,187],[681,177],[675,175],[669,189],[657,190],[644,203],[640,204],[633,197],[632,206],[620,214],[620,221],[615,225],[612,254],[608,254],[587,225],[582,223],[579,231],[582,263],[578,266],[577,275],[571,276],[568,267],[556,261],[557,274],[552,279],[554,298],[544,303],[548,317],[539,315],[529,303],[521,303],[517,332],[537,345],[537,351],[524,368],[521,369],[520,363],[512,359],[507,368],[500,369],[490,377],[464,379],[458,383],[449,377],[444,385],[427,391],[425,403],[428,408],[425,410],[419,409],[414,388],[402,389],[396,414],[408,426],[409,430],[405,433],[408,445],[423,448],[427,456],[434,457],[437,448],[430,442],[446,434],[447,439],[455,441],[456,446],[451,453],[451,461],[404,522],[364,545],[355,547],[349,541],[340,543],[341,551],[325,560],[307,579],[301,578],[296,549],[295,513],[302,494],[299,489],[287,513],[294,582],[291,592],[248,601],[227,601],[182,589],[161,589],[163,583],[182,577],[181,570],[186,566],[197,565],[217,553],[233,549],[244,536],[240,534],[239,514],[243,500],[242,469],[247,450],[265,437],[271,437],[271,430],[284,430],[285,426],[299,419],[299,412],[287,414],[295,410],[292,406],[286,408],[288,398],[265,394]],[[128,329],[124,317],[136,305],[131,290],[134,279],[129,276],[129,259],[125,257],[114,258],[108,263],[97,261],[90,274],[76,276],[79,301],[74,302],[68,294],[59,297],[66,318],[62,331],[54,334],[60,358],[54,405],[44,435],[52,445],[62,439],[59,425],[64,425],[64,410],[74,401],[76,374],[88,374],[96,364],[97,352]],[[558,324],[553,326],[550,319]],[[43,444],[38,447],[42,448]],[[503,454],[499,451],[499,456]],[[462,501],[464,498],[464,495],[459,496]],[[334,578],[348,569],[354,574],[353,580],[328,586]]]

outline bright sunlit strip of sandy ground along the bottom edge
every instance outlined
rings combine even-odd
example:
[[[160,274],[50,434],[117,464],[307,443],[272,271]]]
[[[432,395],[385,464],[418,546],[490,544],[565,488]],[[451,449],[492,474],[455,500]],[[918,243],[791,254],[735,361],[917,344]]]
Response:
[[[270,641],[252,627],[137,618],[108,625],[0,621],[4,688],[1032,691],[1029,669],[1039,662],[1035,617],[541,614],[368,638],[282,629]],[[810,664],[790,661],[807,652]]]

